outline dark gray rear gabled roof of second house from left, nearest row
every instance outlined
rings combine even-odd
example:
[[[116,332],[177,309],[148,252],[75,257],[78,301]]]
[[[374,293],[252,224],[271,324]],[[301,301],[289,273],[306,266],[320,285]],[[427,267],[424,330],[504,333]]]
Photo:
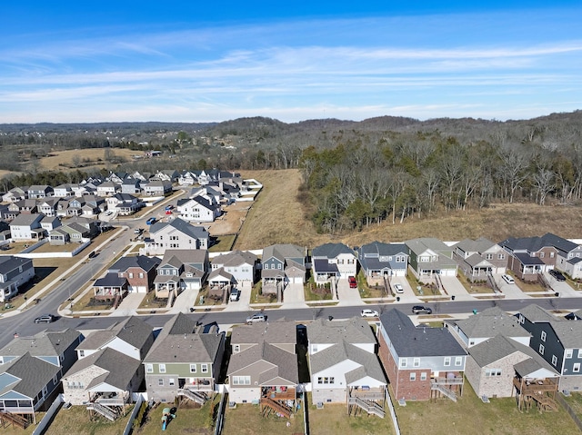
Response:
[[[139,370],[141,361],[135,360],[115,349],[105,348],[76,361],[73,367],[66,372],[64,378],[73,376],[79,371],[95,366],[106,371],[104,375],[98,376],[91,381],[86,389],[95,387],[100,383],[108,383],[119,390],[128,390],[130,381],[134,378],[135,372]]]

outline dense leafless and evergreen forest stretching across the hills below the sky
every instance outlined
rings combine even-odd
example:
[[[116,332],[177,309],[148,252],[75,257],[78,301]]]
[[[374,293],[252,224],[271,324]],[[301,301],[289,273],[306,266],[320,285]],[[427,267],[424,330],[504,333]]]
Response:
[[[47,174],[38,159],[87,147],[163,152],[162,159],[108,162],[108,170],[126,172],[300,168],[300,199],[314,211],[317,228],[341,232],[499,202],[577,205],[581,125],[581,111],[506,122],[384,116],[296,124],[262,117],[217,124],[0,124],[7,157],[0,169],[24,172],[5,177],[4,188],[46,178],[75,182],[91,174],[78,168]]]

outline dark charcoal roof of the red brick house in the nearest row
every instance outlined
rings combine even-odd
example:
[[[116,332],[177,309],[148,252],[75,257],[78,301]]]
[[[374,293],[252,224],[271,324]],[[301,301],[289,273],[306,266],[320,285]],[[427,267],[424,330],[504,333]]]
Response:
[[[398,357],[467,354],[447,328],[416,327],[404,312],[395,308],[383,312],[380,315],[380,322]]]

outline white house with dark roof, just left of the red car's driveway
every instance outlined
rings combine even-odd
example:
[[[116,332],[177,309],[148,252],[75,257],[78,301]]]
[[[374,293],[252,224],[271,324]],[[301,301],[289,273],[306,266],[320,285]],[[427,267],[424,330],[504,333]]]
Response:
[[[316,282],[334,282],[356,276],[356,252],[344,243],[326,243],[311,252],[311,270]]]

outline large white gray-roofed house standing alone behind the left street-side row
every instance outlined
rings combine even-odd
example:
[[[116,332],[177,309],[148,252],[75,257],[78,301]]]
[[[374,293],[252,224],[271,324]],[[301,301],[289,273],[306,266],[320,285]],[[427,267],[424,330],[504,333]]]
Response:
[[[191,225],[180,218],[153,223],[149,234],[145,240],[146,255],[163,255],[166,249],[206,250],[210,240],[206,228]]]

